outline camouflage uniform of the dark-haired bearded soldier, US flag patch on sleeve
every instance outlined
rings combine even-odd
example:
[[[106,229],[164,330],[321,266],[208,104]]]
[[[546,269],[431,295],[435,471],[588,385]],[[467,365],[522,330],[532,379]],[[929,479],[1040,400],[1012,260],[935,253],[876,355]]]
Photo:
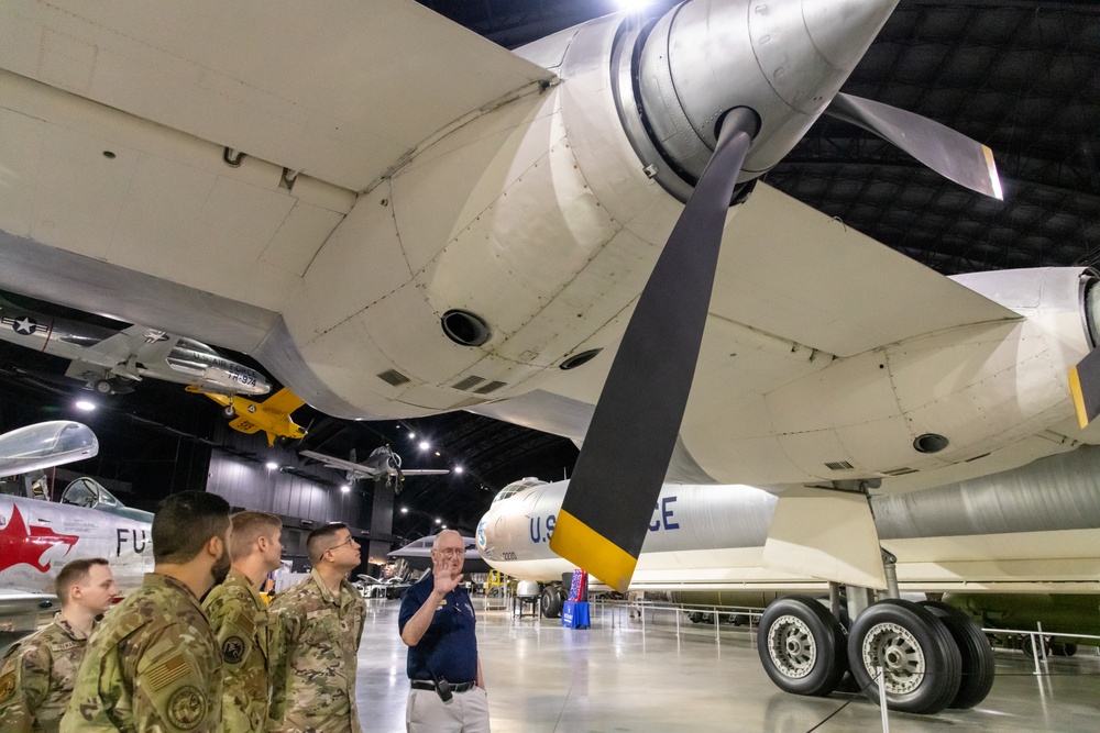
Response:
[[[62,731],[220,730],[221,655],[199,599],[146,573],[88,641]]]

